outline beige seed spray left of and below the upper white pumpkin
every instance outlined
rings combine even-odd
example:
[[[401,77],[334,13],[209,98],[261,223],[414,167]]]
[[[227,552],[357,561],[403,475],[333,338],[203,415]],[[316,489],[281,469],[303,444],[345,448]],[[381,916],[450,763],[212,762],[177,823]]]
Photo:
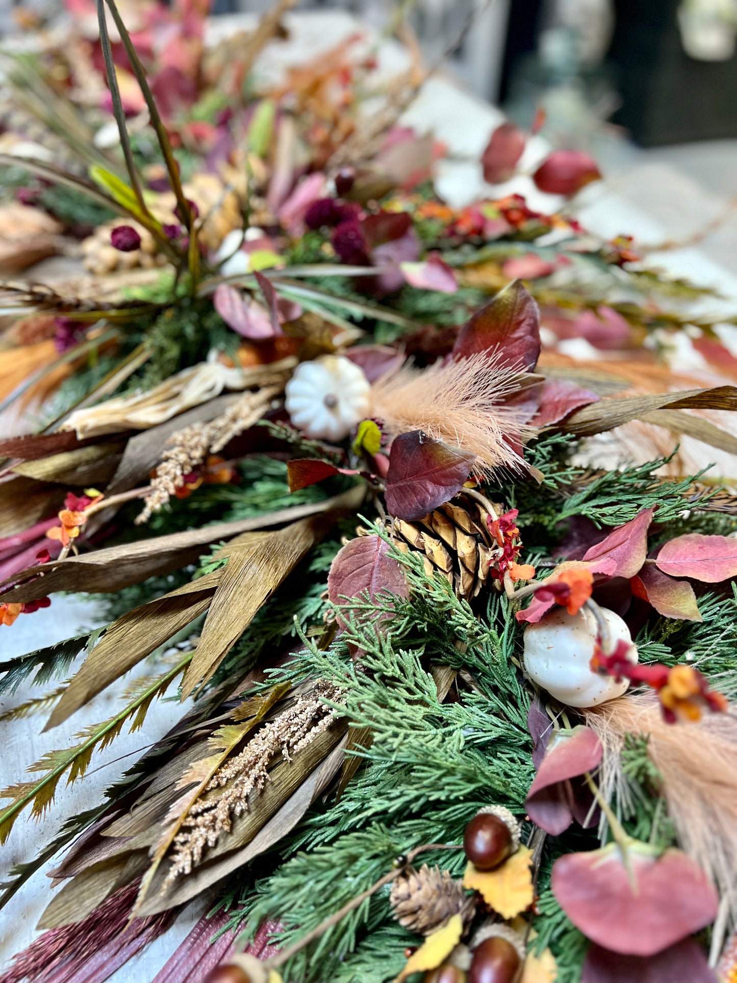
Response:
[[[161,455],[161,464],[151,479],[151,491],[146,495],[142,512],[136,522],[147,522],[184,484],[184,476],[204,461],[207,453],[222,450],[234,436],[242,434],[261,419],[280,385],[268,385],[256,392],[247,392],[225,413],[210,423],[192,424],[169,437],[170,446]]]

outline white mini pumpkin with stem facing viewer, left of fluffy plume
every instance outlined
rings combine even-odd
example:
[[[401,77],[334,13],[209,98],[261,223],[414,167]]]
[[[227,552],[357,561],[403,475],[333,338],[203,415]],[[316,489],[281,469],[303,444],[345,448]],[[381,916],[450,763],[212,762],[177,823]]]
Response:
[[[302,362],[285,392],[292,423],[315,439],[342,440],[369,416],[371,408],[369,379],[344,355]]]

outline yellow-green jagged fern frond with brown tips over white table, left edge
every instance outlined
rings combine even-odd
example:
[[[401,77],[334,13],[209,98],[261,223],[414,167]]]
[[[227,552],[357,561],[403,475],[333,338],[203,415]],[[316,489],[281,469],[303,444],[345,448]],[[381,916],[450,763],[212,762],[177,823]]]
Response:
[[[22,781],[0,792],[1,798],[11,798],[13,801],[0,812],[0,844],[10,835],[13,825],[20,813],[30,805],[31,815],[40,818],[51,804],[61,777],[69,772],[67,784],[84,777],[92,752],[95,748],[102,750],[112,743],[123,729],[126,721],[133,717],[131,732],[138,730],[145,720],[145,715],[151,703],[157,696],[162,696],[169,684],[180,672],[183,672],[192,662],[193,654],[189,653],[177,665],[156,677],[153,681],[142,681],[141,691],[118,714],[103,723],[95,723],[85,727],[78,736],[79,744],[59,751],[49,751],[28,772],[45,772],[39,781]]]

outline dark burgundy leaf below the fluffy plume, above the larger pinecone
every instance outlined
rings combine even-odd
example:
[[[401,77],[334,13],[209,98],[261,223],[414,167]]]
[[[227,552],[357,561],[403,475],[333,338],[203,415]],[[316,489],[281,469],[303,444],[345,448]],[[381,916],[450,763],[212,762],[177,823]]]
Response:
[[[422,431],[400,434],[389,454],[387,509],[398,519],[422,519],[460,491],[475,460],[475,454]]]

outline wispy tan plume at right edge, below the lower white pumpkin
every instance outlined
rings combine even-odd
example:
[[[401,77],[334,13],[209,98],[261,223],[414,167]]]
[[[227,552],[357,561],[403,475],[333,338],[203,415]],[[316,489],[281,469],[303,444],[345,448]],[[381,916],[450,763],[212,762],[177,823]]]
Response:
[[[709,714],[699,723],[665,723],[652,694],[626,694],[585,711],[603,745],[601,787],[627,794],[621,752],[628,733],[649,736],[668,815],[678,838],[737,908],[737,713]]]

